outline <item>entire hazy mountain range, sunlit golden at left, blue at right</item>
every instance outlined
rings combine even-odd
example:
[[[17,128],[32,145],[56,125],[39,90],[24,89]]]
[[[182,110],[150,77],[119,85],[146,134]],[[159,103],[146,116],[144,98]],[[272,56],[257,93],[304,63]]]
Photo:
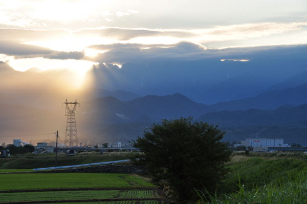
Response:
[[[229,141],[282,137],[304,144],[307,46],[279,51],[121,68],[100,63],[87,72],[82,88],[71,70],[18,72],[0,62],[0,139],[39,142],[46,136],[34,135],[64,132],[62,102],[77,98],[82,143],[128,142],[152,123],[191,116],[219,125]]]

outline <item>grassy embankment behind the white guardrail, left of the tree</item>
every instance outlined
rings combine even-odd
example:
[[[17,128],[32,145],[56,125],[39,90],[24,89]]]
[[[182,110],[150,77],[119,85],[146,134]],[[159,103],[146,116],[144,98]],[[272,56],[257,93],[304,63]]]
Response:
[[[126,160],[130,154],[133,152],[106,152],[104,154],[83,152],[75,156],[59,153],[57,166]],[[53,166],[55,166],[55,154],[23,154],[0,158],[0,169],[33,169]]]

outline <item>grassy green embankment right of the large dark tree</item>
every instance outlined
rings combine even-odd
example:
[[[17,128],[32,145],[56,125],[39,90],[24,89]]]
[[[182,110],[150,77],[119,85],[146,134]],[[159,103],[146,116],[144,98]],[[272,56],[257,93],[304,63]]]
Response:
[[[307,160],[301,153],[236,155],[216,195],[200,203],[307,203]]]

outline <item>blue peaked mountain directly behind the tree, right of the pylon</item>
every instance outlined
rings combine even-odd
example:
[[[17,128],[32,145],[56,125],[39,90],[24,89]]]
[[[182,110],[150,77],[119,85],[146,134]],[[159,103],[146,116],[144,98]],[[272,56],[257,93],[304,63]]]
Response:
[[[128,142],[143,134],[146,127],[162,119],[200,117],[207,106],[181,94],[145,96],[130,101],[103,97],[83,103],[82,128],[96,141]],[[86,116],[86,119],[84,118]]]

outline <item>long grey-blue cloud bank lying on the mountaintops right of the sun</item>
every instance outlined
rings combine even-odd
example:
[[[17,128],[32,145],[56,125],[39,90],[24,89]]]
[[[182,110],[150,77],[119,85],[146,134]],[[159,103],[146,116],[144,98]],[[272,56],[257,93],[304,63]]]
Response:
[[[206,49],[199,44],[191,42],[180,42],[171,45],[143,45],[143,44],[100,44],[91,48],[108,50],[97,55],[96,62],[126,63],[126,62],[150,62],[159,60],[201,60],[206,58],[218,59],[261,59],[267,54],[278,57],[279,51],[290,55],[292,49],[306,49],[301,46],[263,46],[228,49]],[[144,49],[149,48],[149,49]],[[286,54],[284,54],[285,57]],[[302,56],[297,56],[302,58]]]

